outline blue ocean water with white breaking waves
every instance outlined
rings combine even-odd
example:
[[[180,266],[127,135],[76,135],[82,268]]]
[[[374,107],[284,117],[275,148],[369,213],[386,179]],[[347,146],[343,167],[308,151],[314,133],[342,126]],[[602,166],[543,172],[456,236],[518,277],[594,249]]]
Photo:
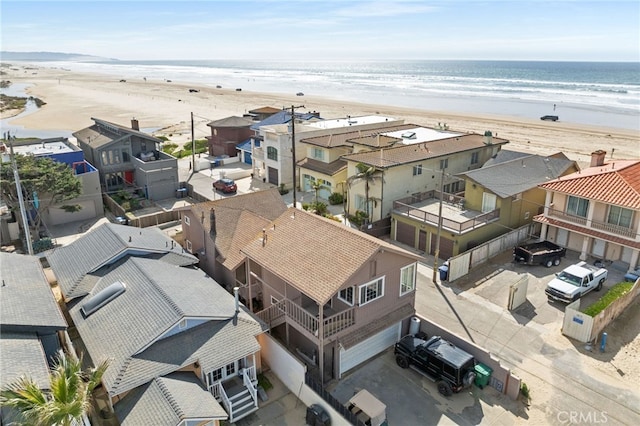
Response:
[[[303,92],[426,111],[530,119],[553,114],[564,122],[640,131],[640,63],[631,62],[114,61],[40,65],[106,73],[118,79],[146,77],[267,93]],[[304,98],[300,100],[304,103]]]

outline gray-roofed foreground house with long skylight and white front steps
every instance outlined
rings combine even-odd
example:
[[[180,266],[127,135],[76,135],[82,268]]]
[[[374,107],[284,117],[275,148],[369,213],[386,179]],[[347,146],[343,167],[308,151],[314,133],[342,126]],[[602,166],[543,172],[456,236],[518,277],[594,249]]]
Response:
[[[129,257],[69,315],[90,360],[110,359],[102,385],[122,424],[233,423],[258,409],[266,327],[199,269]]]

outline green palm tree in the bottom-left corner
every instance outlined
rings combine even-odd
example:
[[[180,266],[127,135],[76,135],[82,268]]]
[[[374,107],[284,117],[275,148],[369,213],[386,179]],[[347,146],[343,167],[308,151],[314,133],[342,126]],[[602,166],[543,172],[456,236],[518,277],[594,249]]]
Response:
[[[91,406],[91,393],[100,384],[108,361],[82,371],[82,359],[58,351],[49,374],[50,391],[22,376],[0,392],[0,405],[20,413],[25,424],[69,426],[81,424]]]

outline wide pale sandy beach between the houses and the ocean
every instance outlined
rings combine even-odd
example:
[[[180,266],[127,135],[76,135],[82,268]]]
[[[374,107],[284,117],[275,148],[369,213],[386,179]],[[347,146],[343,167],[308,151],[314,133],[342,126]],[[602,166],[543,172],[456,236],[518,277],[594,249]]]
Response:
[[[46,102],[38,111],[10,121],[12,125],[31,130],[73,132],[93,124],[92,117],[129,126],[135,117],[142,129],[151,129],[155,136],[164,135],[180,143],[191,140],[192,113],[195,138],[199,139],[211,134],[207,123],[214,120],[242,116],[264,106],[304,105],[297,111],[318,111],[323,118],[382,114],[427,127],[446,123],[449,129],[462,133],[491,130],[494,135],[510,141],[506,149],[542,155],[562,151],[581,167],[588,166],[590,153],[597,149],[606,150],[607,158],[640,158],[640,135],[627,129],[504,116],[445,114],[316,96],[236,91],[236,88],[215,88],[186,81],[120,81],[113,75],[82,74],[41,65],[13,64],[2,70],[3,80],[28,84],[28,94]],[[15,113],[5,111],[2,118]]]

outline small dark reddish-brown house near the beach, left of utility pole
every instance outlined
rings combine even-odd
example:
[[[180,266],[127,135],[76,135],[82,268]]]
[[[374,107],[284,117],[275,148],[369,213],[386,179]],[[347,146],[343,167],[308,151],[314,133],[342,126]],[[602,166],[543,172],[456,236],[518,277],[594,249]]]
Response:
[[[226,117],[207,123],[211,128],[209,155],[213,157],[236,157],[236,146],[254,135],[251,126],[255,122],[245,117]]]

